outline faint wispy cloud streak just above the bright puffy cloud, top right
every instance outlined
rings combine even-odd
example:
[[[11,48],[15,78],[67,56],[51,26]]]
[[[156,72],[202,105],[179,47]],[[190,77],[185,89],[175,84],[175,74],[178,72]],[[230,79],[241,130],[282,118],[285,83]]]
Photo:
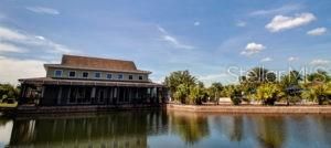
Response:
[[[301,4],[287,4],[282,6],[280,8],[276,9],[269,9],[269,10],[257,10],[252,13],[250,15],[269,15],[269,14],[284,14],[292,11],[297,11],[302,9],[303,7]]]

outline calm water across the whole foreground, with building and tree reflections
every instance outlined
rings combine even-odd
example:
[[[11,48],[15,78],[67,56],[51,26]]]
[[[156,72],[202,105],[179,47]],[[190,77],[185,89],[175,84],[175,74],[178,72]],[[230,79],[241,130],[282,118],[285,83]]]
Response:
[[[0,117],[0,147],[331,147],[331,115],[114,112]]]

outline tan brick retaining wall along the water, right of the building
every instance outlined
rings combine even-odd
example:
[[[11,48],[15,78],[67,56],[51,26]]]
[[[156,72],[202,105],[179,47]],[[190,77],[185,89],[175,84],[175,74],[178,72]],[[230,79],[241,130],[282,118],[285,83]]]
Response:
[[[167,110],[224,114],[331,114],[331,106],[233,106],[233,105],[179,105],[167,104]]]

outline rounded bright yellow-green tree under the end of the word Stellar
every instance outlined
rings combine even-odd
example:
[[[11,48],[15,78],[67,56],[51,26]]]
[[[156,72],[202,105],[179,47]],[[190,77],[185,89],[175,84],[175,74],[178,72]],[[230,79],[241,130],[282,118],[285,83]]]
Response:
[[[256,98],[261,101],[264,105],[274,105],[278,98],[279,87],[274,83],[265,83],[258,86]]]

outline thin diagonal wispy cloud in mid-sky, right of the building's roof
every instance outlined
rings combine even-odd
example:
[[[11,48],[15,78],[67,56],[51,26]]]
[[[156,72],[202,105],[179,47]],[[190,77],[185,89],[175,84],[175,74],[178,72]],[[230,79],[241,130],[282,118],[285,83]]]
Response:
[[[163,28],[158,27],[158,30],[162,33],[161,39],[172,44],[175,49],[186,49],[186,50],[195,49],[192,45],[188,45],[179,42],[174,36],[170,35]]]

